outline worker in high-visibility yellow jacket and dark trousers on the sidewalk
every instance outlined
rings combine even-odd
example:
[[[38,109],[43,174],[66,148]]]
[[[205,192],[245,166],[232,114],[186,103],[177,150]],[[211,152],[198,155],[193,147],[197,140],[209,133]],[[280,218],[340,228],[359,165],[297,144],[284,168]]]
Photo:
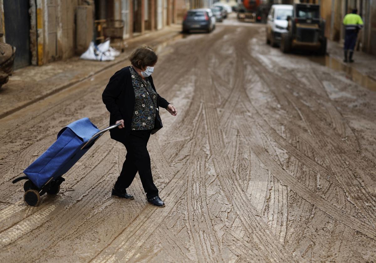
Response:
[[[356,43],[356,38],[358,36],[359,30],[363,27],[363,21],[360,15],[357,14],[358,10],[353,9],[351,14],[345,15],[343,18],[343,24],[346,27],[346,34],[345,34],[345,45],[344,45],[344,53],[345,59],[344,62],[354,62],[352,59],[354,53],[354,47]],[[349,52],[349,60],[347,60],[347,53]]]

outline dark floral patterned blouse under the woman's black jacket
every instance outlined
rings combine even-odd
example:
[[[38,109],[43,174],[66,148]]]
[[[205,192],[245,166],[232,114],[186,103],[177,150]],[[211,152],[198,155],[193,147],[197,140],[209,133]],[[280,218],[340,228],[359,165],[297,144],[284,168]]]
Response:
[[[152,130],[155,122],[157,94],[150,84],[149,78],[141,79],[138,73],[129,67],[135,91],[135,108],[132,116],[132,130]]]

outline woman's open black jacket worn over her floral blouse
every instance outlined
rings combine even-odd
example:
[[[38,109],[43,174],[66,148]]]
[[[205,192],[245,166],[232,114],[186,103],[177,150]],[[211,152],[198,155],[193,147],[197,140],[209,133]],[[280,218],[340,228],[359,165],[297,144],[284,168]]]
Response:
[[[136,77],[136,76],[135,76]],[[149,77],[152,88],[155,91],[152,76]],[[110,112],[110,125],[124,119],[124,128],[110,130],[111,138],[122,142],[130,132],[132,124],[133,109],[135,107],[135,92],[133,90],[132,76],[129,67],[117,71],[109,80],[102,94],[103,103]],[[157,93],[157,107],[167,108],[168,102]],[[159,115],[159,111],[156,110]]]

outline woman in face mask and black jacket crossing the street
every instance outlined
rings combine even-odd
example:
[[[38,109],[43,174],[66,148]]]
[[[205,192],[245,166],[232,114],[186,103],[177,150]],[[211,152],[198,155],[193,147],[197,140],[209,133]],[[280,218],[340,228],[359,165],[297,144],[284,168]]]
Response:
[[[132,200],[127,188],[138,172],[147,201],[164,207],[153,183],[147,142],[150,134],[162,127],[159,107],[176,116],[176,108],[159,96],[153,78],[158,56],[150,47],[137,48],[129,57],[131,66],[117,71],[109,80],[102,94],[103,103],[110,112],[110,125],[121,123],[118,129],[110,130],[111,138],[124,144],[127,155],[123,169],[112,189],[112,196]]]

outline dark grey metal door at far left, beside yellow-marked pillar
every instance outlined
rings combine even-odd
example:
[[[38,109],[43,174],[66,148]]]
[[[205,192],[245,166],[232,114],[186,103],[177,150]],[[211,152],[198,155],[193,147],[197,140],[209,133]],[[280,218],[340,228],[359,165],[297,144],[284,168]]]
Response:
[[[16,47],[14,68],[30,65],[29,1],[3,1],[5,42]]]

